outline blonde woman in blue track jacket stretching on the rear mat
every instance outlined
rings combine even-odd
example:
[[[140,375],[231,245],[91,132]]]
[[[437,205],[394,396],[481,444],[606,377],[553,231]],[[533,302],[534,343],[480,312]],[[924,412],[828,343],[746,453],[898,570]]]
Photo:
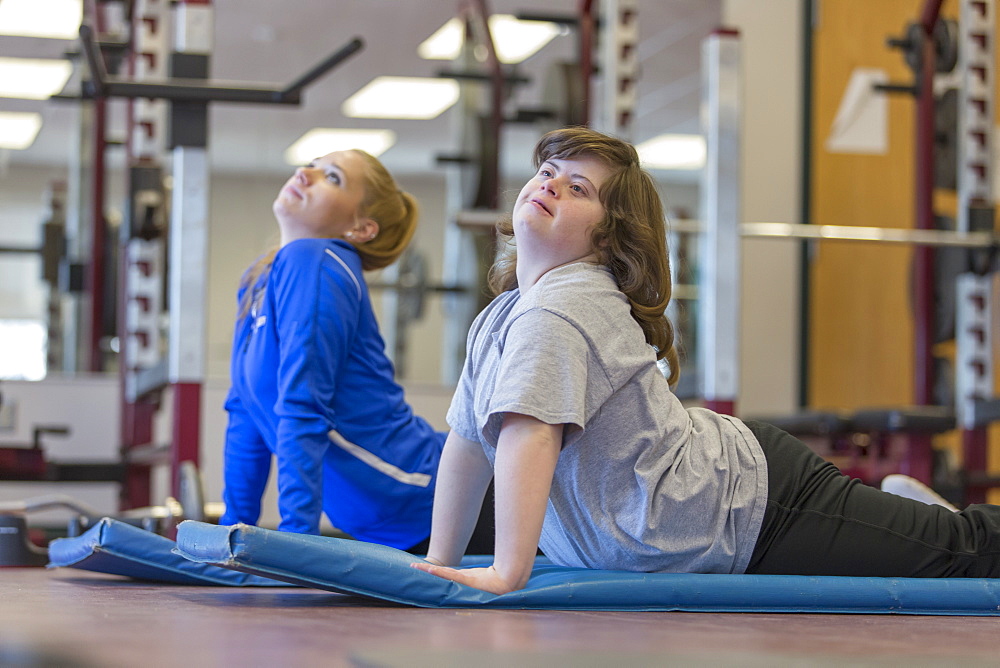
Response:
[[[280,247],[239,289],[221,522],[257,522],[273,456],[279,530],[319,533],[325,512],[359,540],[424,551],[445,435],[395,382],[362,274],[409,244],[416,201],[372,156],[338,151],[272,208]]]

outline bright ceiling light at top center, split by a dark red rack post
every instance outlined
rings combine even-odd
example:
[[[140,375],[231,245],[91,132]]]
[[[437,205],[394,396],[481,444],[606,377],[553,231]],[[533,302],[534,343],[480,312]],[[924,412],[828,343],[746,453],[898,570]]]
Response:
[[[489,25],[497,59],[508,65],[534,55],[561,32],[555,23],[521,21],[510,14],[493,14]],[[454,60],[462,48],[464,33],[459,19],[449,19],[417,47],[417,53],[427,60]]]

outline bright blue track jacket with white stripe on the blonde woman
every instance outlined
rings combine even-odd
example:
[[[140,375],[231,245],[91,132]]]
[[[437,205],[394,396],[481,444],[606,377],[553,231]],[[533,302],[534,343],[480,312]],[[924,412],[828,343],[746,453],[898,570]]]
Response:
[[[293,241],[252,290],[233,342],[222,523],[257,522],[274,455],[280,530],[318,533],[325,512],[359,540],[426,539],[445,434],[394,380],[357,252]]]

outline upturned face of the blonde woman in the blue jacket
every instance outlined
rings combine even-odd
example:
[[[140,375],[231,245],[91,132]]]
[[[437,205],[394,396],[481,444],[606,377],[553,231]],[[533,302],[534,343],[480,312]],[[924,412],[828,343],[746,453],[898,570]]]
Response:
[[[299,167],[274,200],[282,242],[342,239],[358,223],[365,196],[364,159],[335,151]]]

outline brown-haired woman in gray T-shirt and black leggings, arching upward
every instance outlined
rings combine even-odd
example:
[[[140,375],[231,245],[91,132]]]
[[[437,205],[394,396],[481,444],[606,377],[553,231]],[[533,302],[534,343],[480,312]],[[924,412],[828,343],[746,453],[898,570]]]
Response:
[[[469,332],[416,568],[498,594],[539,546],[642,572],[1000,576],[1000,507],[886,494],[774,427],[681,406],[663,209],[635,149],[569,128],[535,165]],[[494,562],[450,568],[494,476]]]

